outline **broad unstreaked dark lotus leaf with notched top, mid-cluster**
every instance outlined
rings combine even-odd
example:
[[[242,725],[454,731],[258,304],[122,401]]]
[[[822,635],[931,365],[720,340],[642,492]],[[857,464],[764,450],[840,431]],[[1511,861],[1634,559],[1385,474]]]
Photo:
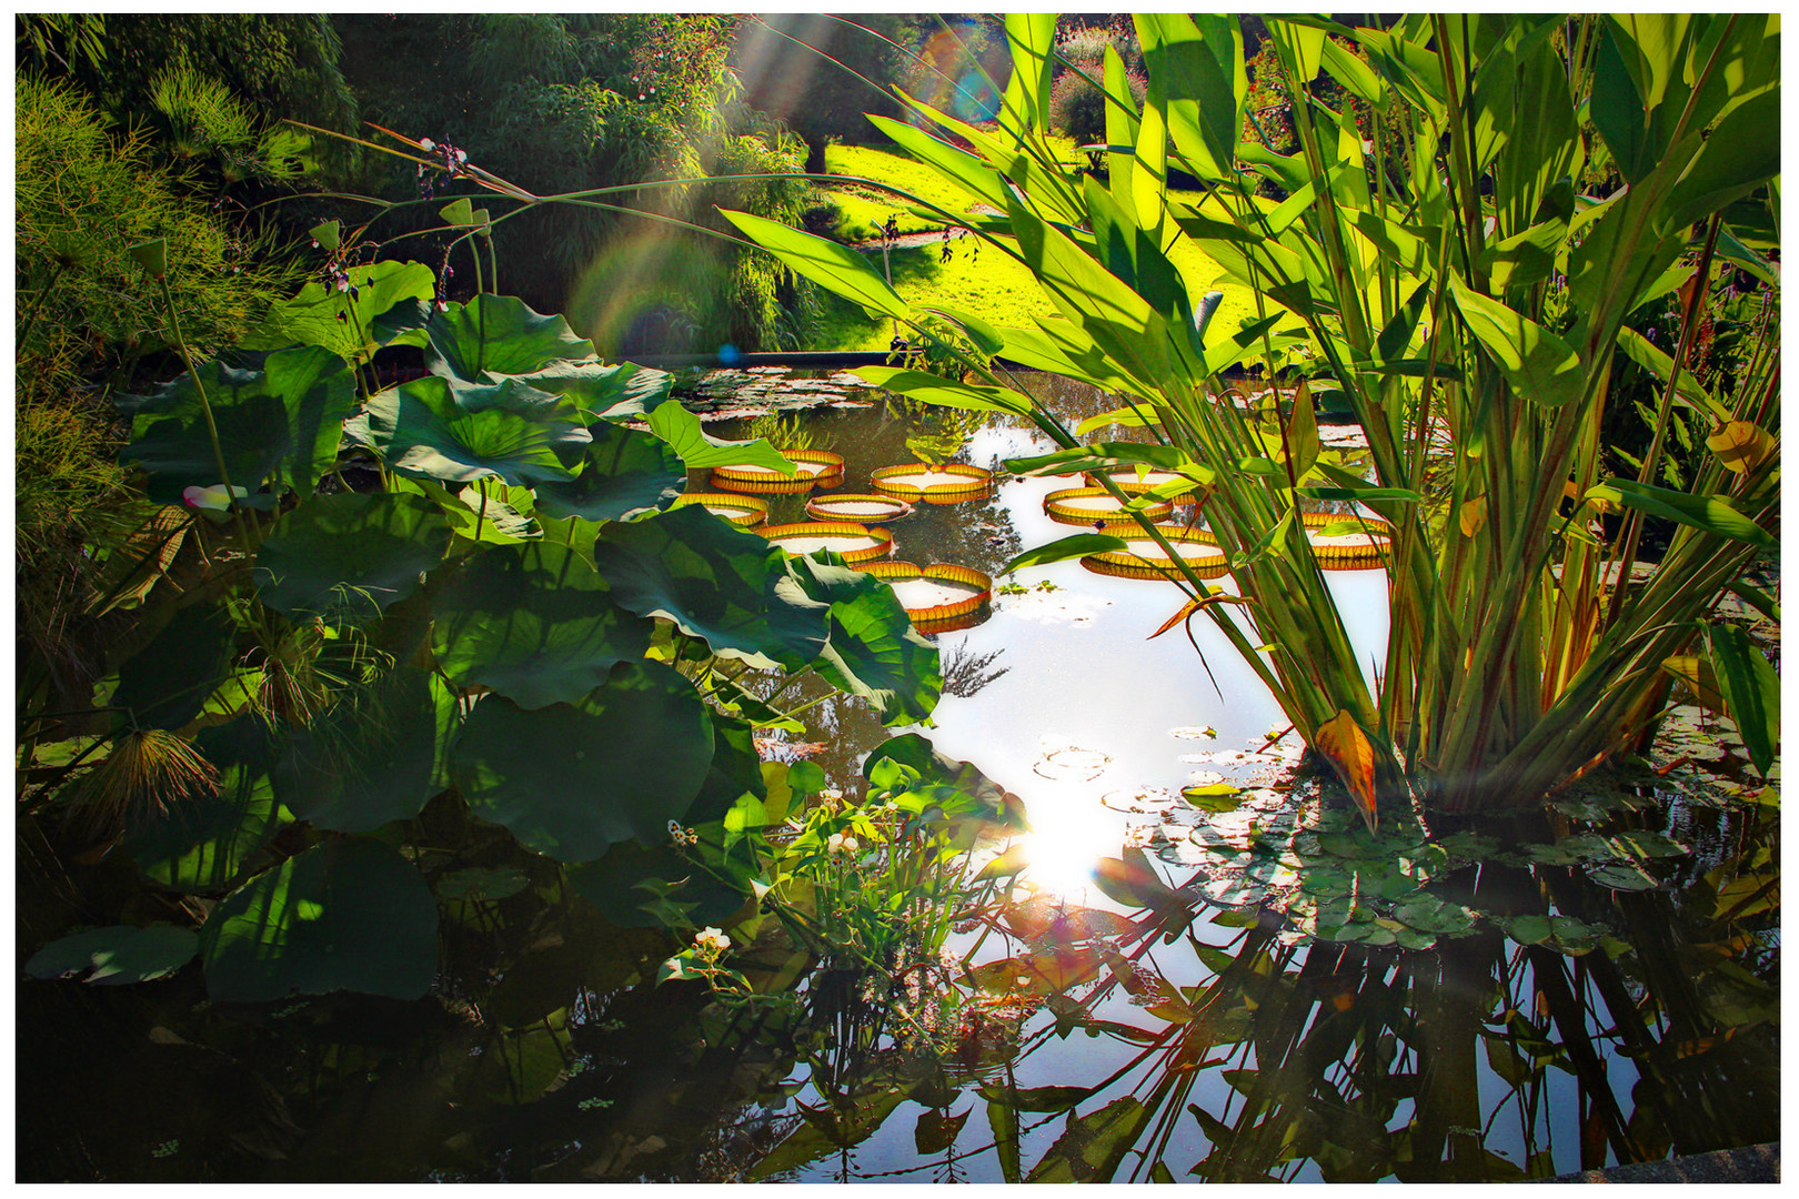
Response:
[[[657,845],[712,766],[712,721],[693,683],[660,662],[619,663],[579,703],[534,712],[489,696],[455,750],[470,807],[559,861],[615,841]]]

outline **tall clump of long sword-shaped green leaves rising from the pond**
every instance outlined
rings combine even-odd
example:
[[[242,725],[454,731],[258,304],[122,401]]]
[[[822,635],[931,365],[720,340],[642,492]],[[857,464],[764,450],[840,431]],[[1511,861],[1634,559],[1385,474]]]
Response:
[[[1060,313],[1036,329],[959,320],[962,331],[989,354],[1121,395],[1114,421],[1151,442],[1085,444],[1094,421],[1069,430],[991,372],[986,386],[871,377],[1027,415],[1063,446],[1015,471],[1178,469],[1171,489],[1196,493],[1247,599],[1200,604],[1209,588],[1189,575],[1189,602],[1371,816],[1369,784],[1448,813],[1531,804],[1653,726],[1664,663],[1695,656],[1711,658],[1767,769],[1772,671],[1707,622],[1729,588],[1772,609],[1741,575],[1776,546],[1777,322],[1718,394],[1686,360],[1720,270],[1777,289],[1750,248],[1777,246],[1777,18],[1412,14],[1387,29],[1268,29],[1299,142],[1290,156],[1258,133],[1279,111],[1245,110],[1232,18],[1139,16],[1141,108],[1108,54],[1105,180],[1072,173],[1047,138],[1047,16],[1007,20],[997,129],[910,99],[917,124],[878,120],[1002,214],[977,232],[1025,262]],[[1202,192],[1171,191],[1177,171]],[[1263,180],[1284,200],[1258,196]],[[736,219],[795,270],[925,333],[856,255]],[[1213,286],[1250,298],[1254,318],[1211,320],[1216,302],[1193,298],[1211,280],[1175,266],[1182,241],[1223,266]],[[1626,320],[1682,288],[1669,358]],[[1626,478],[1608,473],[1601,439],[1619,351],[1660,376],[1653,442]],[[1238,363],[1270,381],[1254,408],[1225,395],[1220,372]],[[1320,453],[1320,397],[1365,430],[1367,476]],[[1704,419],[1716,449],[1686,491],[1650,482],[1677,406]],[[1374,688],[1301,528],[1320,502],[1394,530]],[[1616,586],[1633,577],[1646,518],[1673,521],[1671,543],[1648,582]],[[1092,548],[1088,534],[1027,559]]]

